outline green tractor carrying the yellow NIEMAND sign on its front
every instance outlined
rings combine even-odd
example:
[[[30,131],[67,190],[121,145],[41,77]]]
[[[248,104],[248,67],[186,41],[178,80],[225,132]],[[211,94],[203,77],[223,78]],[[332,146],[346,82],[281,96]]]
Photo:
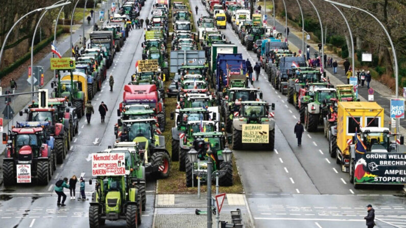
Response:
[[[269,110],[275,110],[275,104],[268,105],[266,102],[241,102],[240,111],[232,120],[232,148],[241,149],[243,147],[243,124],[258,125],[267,124],[269,132],[262,132],[268,135],[268,143],[262,143],[268,150],[273,150],[275,145],[275,119],[274,113]]]

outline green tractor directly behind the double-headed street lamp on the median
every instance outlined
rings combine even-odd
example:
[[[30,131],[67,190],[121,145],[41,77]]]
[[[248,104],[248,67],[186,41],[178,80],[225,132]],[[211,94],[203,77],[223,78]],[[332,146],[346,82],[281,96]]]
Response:
[[[227,147],[226,137],[220,132],[200,132],[193,134],[193,145],[185,157],[186,161],[186,186],[197,186],[196,176],[200,176],[203,182],[207,182],[207,162],[210,156],[212,171],[219,172],[219,185],[233,185],[232,151]],[[212,152],[208,155],[207,151]],[[190,161],[189,157],[196,161]],[[210,173],[211,175],[211,173]],[[212,179],[213,180],[213,179]],[[216,180],[214,178],[214,180]]]

